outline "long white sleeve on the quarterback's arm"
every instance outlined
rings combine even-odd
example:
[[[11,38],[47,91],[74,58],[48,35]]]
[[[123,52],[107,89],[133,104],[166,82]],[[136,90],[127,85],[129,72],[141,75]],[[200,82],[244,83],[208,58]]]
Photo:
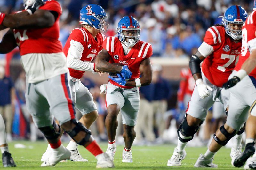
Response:
[[[82,58],[82,53],[84,46],[77,41],[71,40],[70,47],[68,48],[67,56],[67,67],[80,71],[93,71],[94,63],[84,62],[80,59]]]

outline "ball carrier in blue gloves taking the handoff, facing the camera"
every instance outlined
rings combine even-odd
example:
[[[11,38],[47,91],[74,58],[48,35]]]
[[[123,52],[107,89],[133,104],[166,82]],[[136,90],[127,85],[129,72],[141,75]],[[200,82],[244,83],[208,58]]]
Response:
[[[107,153],[114,159],[118,123],[116,118],[121,110],[125,142],[122,162],[132,163],[131,147],[136,136],[134,126],[139,110],[139,87],[149,85],[152,80],[152,47],[151,44],[139,40],[140,25],[132,16],[125,16],[119,21],[117,32],[118,37],[107,37],[103,41],[103,50],[97,55],[95,64],[100,71],[118,73],[116,65],[112,63],[121,63],[129,66],[132,72],[129,80],[119,73],[118,78],[109,76],[106,89],[106,128],[109,140]]]

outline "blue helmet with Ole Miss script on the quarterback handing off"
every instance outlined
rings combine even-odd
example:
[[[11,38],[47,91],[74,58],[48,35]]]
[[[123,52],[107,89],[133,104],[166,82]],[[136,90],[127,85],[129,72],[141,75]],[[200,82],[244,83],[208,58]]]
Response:
[[[104,21],[104,19],[108,18],[106,12],[104,9],[96,4],[89,4],[86,5],[84,8],[80,10],[80,24],[88,24],[92,26],[93,28],[107,32],[108,25]],[[106,30],[104,29],[104,26],[107,26]]]

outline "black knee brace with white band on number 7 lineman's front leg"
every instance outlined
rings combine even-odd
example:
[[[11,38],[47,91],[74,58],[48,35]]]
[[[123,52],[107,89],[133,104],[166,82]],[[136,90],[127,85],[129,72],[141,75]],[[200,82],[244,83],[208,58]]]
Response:
[[[185,116],[180,124],[179,129],[177,130],[179,140],[181,142],[188,142],[192,140],[202,123],[203,121],[200,122],[199,126],[197,127],[189,126],[187,122],[187,117]]]

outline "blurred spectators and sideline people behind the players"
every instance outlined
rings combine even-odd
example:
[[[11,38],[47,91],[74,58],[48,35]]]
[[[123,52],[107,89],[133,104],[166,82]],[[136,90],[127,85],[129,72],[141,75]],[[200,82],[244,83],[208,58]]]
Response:
[[[206,30],[214,24],[221,24],[222,18],[219,16],[223,16],[230,5],[241,5],[248,13],[252,12],[253,6],[252,0],[58,0],[58,2],[63,8],[60,18],[60,41],[63,46],[71,30],[80,27],[80,9],[87,4],[99,4],[108,14],[106,22],[110,26],[108,32],[105,33],[106,36],[115,36],[118,21],[125,15],[132,15],[137,18],[141,25],[140,40],[152,44],[152,57],[169,58],[188,57],[195,53],[203,42]],[[22,9],[24,9],[23,0],[0,0],[0,12],[12,13]],[[3,35],[4,31],[1,31],[0,39]],[[12,55],[12,60],[20,59],[19,52]],[[0,54],[0,61],[6,57],[7,55]],[[0,63],[1,65],[4,64]],[[153,71],[151,85],[140,88],[141,103],[138,124],[137,127],[135,126],[137,131],[135,144],[136,142],[137,144],[151,144],[154,142],[162,143],[165,140],[170,141],[172,137],[170,137],[168,129],[170,129],[172,118],[179,124],[185,114],[187,101],[180,103],[181,101],[178,100],[177,102],[180,81],[162,78],[161,65],[153,65]],[[6,97],[9,109],[7,112],[14,112],[14,116],[8,114],[3,116],[5,121],[9,122],[6,123],[6,126],[9,126],[9,130],[6,128],[7,136],[9,140],[12,138],[31,139],[33,141],[40,139],[40,133],[36,132],[25,107],[25,73],[19,71],[17,76],[12,74],[10,76],[13,80],[9,77],[0,78],[0,99],[9,95]],[[6,85],[7,81],[8,86]],[[107,114],[105,94],[100,94],[99,85],[86,78],[86,74],[82,78],[82,83],[90,89],[98,107],[99,118],[91,128],[92,132],[94,136],[98,136],[99,140],[107,140],[104,126],[104,119]],[[6,91],[3,91],[2,87],[6,88]],[[14,93],[13,89],[15,90]],[[7,104],[0,100],[0,109]],[[77,114],[77,116],[79,115]],[[214,119],[209,118],[208,120],[213,122]],[[147,123],[143,124],[143,122]],[[172,127],[176,128],[175,125]],[[121,132],[119,132],[120,134]],[[176,140],[176,135],[174,132],[171,136],[175,137]]]

